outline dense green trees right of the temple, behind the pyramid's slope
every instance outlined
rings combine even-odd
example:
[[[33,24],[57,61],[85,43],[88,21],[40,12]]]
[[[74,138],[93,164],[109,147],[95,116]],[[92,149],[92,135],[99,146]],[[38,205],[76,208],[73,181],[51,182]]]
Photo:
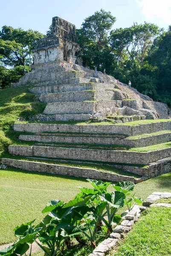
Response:
[[[110,12],[101,9],[77,29],[84,66],[101,72],[105,68],[125,84],[131,80],[140,93],[170,104],[171,26],[168,32],[147,22],[110,30],[115,21]]]

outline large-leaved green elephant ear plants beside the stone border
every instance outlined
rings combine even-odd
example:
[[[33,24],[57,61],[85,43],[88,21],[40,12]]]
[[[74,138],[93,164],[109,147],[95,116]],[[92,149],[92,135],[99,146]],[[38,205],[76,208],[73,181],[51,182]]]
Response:
[[[72,240],[84,246],[90,241],[96,247],[97,236],[108,236],[114,225],[121,220],[117,209],[127,204],[131,209],[140,202],[133,194],[134,183],[120,182],[113,186],[116,191],[108,192],[110,182],[88,180],[93,188],[79,188],[80,192],[73,200],[64,203],[51,200],[42,210],[47,215],[36,226],[34,221],[22,224],[14,229],[17,241],[8,248],[0,250],[2,256],[26,255],[29,245],[35,241],[46,256],[60,255],[64,248],[70,250]],[[107,218],[106,218],[107,217]],[[101,230],[106,231],[106,235]],[[30,251],[31,255],[31,251]]]

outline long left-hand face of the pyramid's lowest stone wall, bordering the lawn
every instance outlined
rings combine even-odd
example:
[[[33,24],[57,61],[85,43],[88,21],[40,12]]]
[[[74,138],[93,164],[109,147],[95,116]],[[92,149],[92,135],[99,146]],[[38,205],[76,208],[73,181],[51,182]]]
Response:
[[[30,172],[46,172],[58,175],[84,177],[96,180],[108,180],[112,182],[120,181],[132,181],[134,183],[139,182],[139,179],[135,177],[129,177],[125,175],[118,175],[112,172],[99,171],[96,169],[80,168],[72,166],[63,166],[57,164],[39,163],[32,161],[16,160],[9,158],[1,158],[0,162],[9,166],[13,166],[18,169],[27,170]]]

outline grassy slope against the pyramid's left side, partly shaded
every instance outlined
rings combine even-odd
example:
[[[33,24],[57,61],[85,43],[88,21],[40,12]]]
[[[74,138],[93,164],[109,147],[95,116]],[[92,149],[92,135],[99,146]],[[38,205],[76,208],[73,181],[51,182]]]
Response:
[[[35,94],[30,93],[26,87],[8,88],[0,90],[0,152],[16,138],[12,125],[17,118],[28,119],[42,113],[46,103],[37,102]]]

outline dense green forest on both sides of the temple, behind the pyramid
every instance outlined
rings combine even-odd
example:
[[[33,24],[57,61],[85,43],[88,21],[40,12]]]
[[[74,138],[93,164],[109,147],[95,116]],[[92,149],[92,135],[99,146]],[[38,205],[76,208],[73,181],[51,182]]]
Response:
[[[85,18],[77,29],[83,65],[114,76],[156,101],[171,104],[171,26],[133,23],[112,29],[116,17],[101,9]],[[34,49],[43,35],[3,26],[0,31],[0,86],[16,82],[32,64]],[[7,67],[10,67],[8,69]]]

